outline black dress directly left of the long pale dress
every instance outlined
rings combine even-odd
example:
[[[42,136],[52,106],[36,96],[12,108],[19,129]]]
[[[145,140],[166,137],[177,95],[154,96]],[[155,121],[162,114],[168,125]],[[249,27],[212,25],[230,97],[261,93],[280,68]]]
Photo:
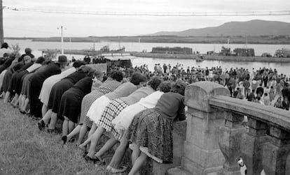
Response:
[[[41,117],[41,101],[39,100],[39,94],[41,92],[41,86],[48,77],[56,74],[60,74],[60,65],[57,63],[49,63],[46,68],[41,69],[38,73],[34,73],[30,77],[29,85],[29,101],[30,101],[30,114]]]

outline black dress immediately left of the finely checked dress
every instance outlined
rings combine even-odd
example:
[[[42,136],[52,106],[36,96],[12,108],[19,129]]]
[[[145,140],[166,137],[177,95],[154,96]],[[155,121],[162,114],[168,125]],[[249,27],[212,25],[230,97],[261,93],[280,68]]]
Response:
[[[92,77],[85,77],[78,81],[71,89],[64,92],[60,101],[58,116],[67,116],[70,121],[78,123],[81,114],[81,101],[90,93]]]

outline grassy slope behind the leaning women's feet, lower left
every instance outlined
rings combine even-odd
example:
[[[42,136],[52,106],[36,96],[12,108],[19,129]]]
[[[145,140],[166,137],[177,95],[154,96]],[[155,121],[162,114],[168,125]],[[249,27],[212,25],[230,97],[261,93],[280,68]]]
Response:
[[[36,123],[0,100],[0,174],[109,174],[106,166],[85,162],[75,143],[63,147],[60,135]],[[112,155],[103,158],[109,162]]]

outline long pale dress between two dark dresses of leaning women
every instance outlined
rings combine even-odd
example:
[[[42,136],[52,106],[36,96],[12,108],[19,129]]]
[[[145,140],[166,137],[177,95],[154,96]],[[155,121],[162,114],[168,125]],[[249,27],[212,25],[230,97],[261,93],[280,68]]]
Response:
[[[57,82],[60,82],[61,79],[67,77],[71,73],[76,72],[76,68],[72,67],[67,70],[64,70],[62,73],[48,77],[44,82],[41,88],[41,93],[39,94],[39,100],[43,105],[48,105],[48,100],[50,96],[50,91]]]

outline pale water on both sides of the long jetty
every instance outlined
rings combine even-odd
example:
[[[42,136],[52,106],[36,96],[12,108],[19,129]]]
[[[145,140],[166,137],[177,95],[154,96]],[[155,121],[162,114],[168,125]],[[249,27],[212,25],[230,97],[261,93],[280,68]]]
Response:
[[[32,48],[32,53],[35,56],[41,56],[40,49],[60,49],[60,42],[32,42],[31,40],[6,40],[9,45],[18,45],[21,47],[20,52],[24,53],[25,47]],[[111,50],[117,50],[120,47],[125,46],[125,50],[129,52],[141,52],[146,50],[147,52],[151,52],[152,47],[191,47],[193,51],[198,51],[200,53],[206,53],[210,50],[215,50],[219,52],[222,46],[228,47],[227,44],[188,44],[188,43],[117,43],[117,42],[100,42],[95,43],[95,49],[99,50],[104,45],[109,45]],[[230,48],[233,50],[237,47],[246,47],[246,45],[237,45],[231,44]],[[274,54],[276,50],[282,48],[290,48],[290,45],[247,45],[247,48],[254,48],[255,55],[261,56],[264,52],[269,52],[270,54]],[[64,49],[90,49],[92,48],[92,43],[64,43]],[[67,55],[69,59],[71,59],[72,55]],[[76,59],[83,59],[83,56],[74,55]],[[286,75],[290,75],[290,63],[261,63],[261,62],[230,62],[230,61],[202,61],[196,62],[195,60],[190,59],[153,59],[153,58],[137,58],[132,60],[133,66],[141,66],[147,64],[149,66],[149,70],[153,70],[153,66],[155,63],[170,63],[170,65],[174,66],[177,63],[181,63],[184,65],[184,68],[188,66],[198,67],[200,68],[212,68],[215,66],[221,66],[223,69],[230,68],[247,68],[251,70],[252,68],[276,68],[278,73],[284,73]]]

